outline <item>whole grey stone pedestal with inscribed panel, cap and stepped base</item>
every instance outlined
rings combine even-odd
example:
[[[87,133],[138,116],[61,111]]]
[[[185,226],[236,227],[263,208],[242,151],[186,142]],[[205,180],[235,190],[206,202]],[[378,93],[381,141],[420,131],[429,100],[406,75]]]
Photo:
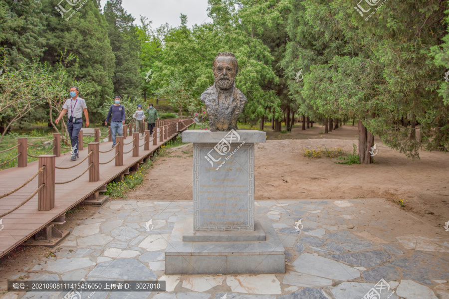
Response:
[[[166,274],[285,273],[271,223],[254,220],[254,143],[265,132],[187,130],[194,144],[193,217],[177,219]]]

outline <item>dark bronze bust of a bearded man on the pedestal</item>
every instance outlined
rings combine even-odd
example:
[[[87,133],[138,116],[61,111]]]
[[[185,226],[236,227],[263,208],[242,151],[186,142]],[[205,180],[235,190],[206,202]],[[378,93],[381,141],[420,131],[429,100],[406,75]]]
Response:
[[[230,52],[218,53],[212,70],[215,83],[200,98],[206,104],[211,131],[237,130],[237,117],[247,102],[246,97],[235,87],[237,59]]]

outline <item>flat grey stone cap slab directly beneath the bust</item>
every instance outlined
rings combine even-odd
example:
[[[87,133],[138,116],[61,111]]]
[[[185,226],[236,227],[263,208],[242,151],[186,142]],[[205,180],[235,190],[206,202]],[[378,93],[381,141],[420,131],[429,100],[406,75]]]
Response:
[[[234,139],[232,144],[262,143],[266,142],[266,133],[257,130],[235,130],[240,137],[237,141]],[[229,132],[211,132],[209,130],[186,130],[183,132],[183,143],[213,143],[216,144],[226,137]]]

